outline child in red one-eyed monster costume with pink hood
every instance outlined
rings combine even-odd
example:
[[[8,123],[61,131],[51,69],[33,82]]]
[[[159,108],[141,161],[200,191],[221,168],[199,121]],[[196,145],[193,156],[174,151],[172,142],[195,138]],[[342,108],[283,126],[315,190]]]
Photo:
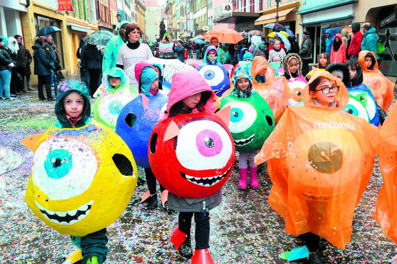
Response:
[[[234,147],[230,132],[227,130],[227,125],[225,126],[223,122],[218,123],[219,121],[215,121],[217,119],[213,114],[214,106],[212,104],[214,96],[213,90],[198,71],[189,70],[175,73],[172,78],[172,88],[168,98],[167,110],[156,127],[161,127],[163,126],[162,124],[167,124],[167,122],[171,122],[174,126],[178,126],[173,122],[179,122],[177,121],[178,119],[186,120],[183,122],[184,125],[180,128],[180,134],[175,136],[172,134],[170,136],[171,139],[168,139],[168,137],[166,139],[165,136],[163,139],[159,130],[156,130],[155,127],[152,132],[152,139],[149,143],[149,161],[154,171],[156,167],[163,166],[163,162],[160,161],[161,164],[154,164],[158,163],[158,161],[154,159],[154,156],[152,157],[150,153],[157,154],[161,152],[162,150],[160,150],[160,148],[165,146],[169,140],[173,140],[172,138],[174,137],[177,138],[175,139],[177,142],[174,141],[173,147],[170,145],[172,149],[176,149],[177,161],[171,160],[171,153],[168,155],[170,155],[169,162],[171,163],[171,166],[178,168],[178,175],[169,175],[166,177],[167,179],[175,177],[171,186],[174,188],[174,191],[170,190],[170,187],[167,187],[169,190],[168,206],[172,210],[179,211],[178,226],[174,229],[170,241],[176,248],[179,247],[179,252],[182,256],[192,258],[192,263],[194,264],[214,263],[208,251],[210,232],[209,210],[216,207],[222,201],[221,186],[216,186],[219,181],[223,183],[224,180],[219,178],[215,183],[212,180],[214,177],[208,177],[208,174],[211,176],[214,175],[213,173],[217,174],[221,172],[224,173],[222,175],[226,175],[226,173],[229,174],[230,171],[228,170],[230,169],[228,169],[228,167],[231,168],[233,166],[232,162],[234,162]],[[229,118],[229,113],[230,112],[227,113],[227,117],[225,116],[225,118]],[[204,119],[199,117],[204,115]],[[205,124],[208,123],[211,123],[212,125],[200,131],[199,124],[203,124],[205,126]],[[182,130],[185,128],[189,130],[190,126],[198,127],[192,131],[183,133]],[[166,134],[168,134],[168,132],[171,133],[172,130],[169,128],[170,127],[168,126],[165,132]],[[176,129],[178,129],[178,127],[176,127]],[[195,133],[198,134],[195,135]],[[184,135],[191,138],[189,141],[192,142],[186,141],[187,138],[183,137]],[[156,141],[153,140],[153,138],[157,138],[157,143],[155,143]],[[209,148],[211,150],[209,150],[210,152],[207,152]],[[212,152],[212,149],[216,150],[216,152]],[[226,151],[226,149],[229,150]],[[171,151],[173,150],[167,150],[167,153]],[[184,153],[182,154],[180,151],[184,151]],[[197,159],[205,159],[206,162],[199,162],[197,159],[191,160],[189,156],[195,151],[198,151],[198,154],[195,155],[195,157],[197,157]],[[179,153],[182,155],[180,156]],[[184,160],[182,161],[182,159]],[[223,161],[220,160],[227,161],[226,165],[224,165]],[[182,166],[180,163],[183,163],[184,165]],[[222,163],[223,165],[219,163]],[[189,167],[189,169],[182,169],[182,167]],[[160,169],[162,174],[166,173],[164,168]],[[214,168],[217,168],[218,172],[213,171]],[[191,181],[195,180],[195,178],[179,172],[179,170],[183,170],[185,172],[189,171],[191,175],[199,176],[198,179],[200,179],[200,182],[192,185]],[[186,177],[186,179],[182,178],[181,175]],[[205,185],[204,183],[201,183],[201,180],[206,181]],[[184,188],[184,186],[187,186],[186,184],[190,184],[191,188]],[[182,188],[183,190],[179,190],[178,186],[180,186],[179,189]],[[204,193],[208,192],[207,190],[210,190],[211,188],[215,188],[210,192],[212,195],[204,195]],[[177,195],[178,192],[181,191],[185,192],[186,195]],[[196,250],[192,256],[190,233],[193,215],[195,216],[196,223]]]

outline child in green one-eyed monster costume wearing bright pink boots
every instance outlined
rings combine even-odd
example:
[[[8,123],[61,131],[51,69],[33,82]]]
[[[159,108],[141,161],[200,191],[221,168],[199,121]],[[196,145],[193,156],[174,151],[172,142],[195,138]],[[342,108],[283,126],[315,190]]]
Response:
[[[240,101],[235,99],[235,97],[242,100],[245,98],[247,101]],[[259,183],[254,158],[258,154],[256,150],[261,147],[267,136],[274,129],[274,118],[265,100],[253,90],[252,75],[249,67],[240,66],[234,72],[233,91],[229,96],[222,99],[221,108],[228,105],[232,107],[229,129],[232,132],[236,150],[240,153],[240,180],[238,186],[240,189],[247,189],[247,161],[249,161],[251,187],[257,189]],[[259,111],[260,113],[258,114],[255,108],[262,111]],[[250,130],[251,127],[254,130]],[[244,133],[244,136],[241,136],[241,132]]]

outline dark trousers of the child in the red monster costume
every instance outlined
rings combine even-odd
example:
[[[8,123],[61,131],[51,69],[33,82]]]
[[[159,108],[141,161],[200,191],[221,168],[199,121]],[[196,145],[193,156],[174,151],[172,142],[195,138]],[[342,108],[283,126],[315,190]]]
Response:
[[[209,213],[179,212],[178,228],[190,238],[193,214],[196,223],[196,249],[207,249],[209,248]]]

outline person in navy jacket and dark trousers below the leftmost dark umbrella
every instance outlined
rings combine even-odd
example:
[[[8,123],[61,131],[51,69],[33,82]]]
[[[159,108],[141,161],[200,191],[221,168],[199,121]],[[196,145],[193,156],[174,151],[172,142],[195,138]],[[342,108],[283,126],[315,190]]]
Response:
[[[38,38],[33,49],[34,60],[34,74],[37,75],[39,83],[37,89],[39,91],[39,100],[43,101],[46,98],[43,93],[43,85],[46,85],[47,100],[54,101],[55,98],[51,95],[51,69],[55,69],[54,63],[51,62],[49,55],[45,50],[46,43],[44,39]]]

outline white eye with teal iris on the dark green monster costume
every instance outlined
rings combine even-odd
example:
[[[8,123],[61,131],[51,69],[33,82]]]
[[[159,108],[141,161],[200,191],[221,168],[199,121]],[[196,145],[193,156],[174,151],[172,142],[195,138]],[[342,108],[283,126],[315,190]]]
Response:
[[[249,129],[257,119],[257,110],[246,102],[234,101],[227,103],[222,108],[230,106],[229,130],[232,133],[240,133]]]

